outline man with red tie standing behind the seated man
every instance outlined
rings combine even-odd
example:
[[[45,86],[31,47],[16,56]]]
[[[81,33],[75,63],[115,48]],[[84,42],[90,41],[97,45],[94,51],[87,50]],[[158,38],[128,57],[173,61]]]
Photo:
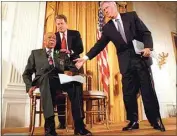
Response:
[[[55,17],[55,24],[57,27],[57,32],[55,33],[57,44],[55,50],[59,50],[60,52],[67,53],[68,56],[71,58],[71,60],[80,58],[79,54],[83,52],[83,44],[82,44],[80,33],[76,30],[68,29],[67,18],[65,15],[62,14],[57,15]],[[82,71],[80,72],[83,73],[83,69],[81,70]],[[81,83],[75,83],[75,85],[77,86],[78,89],[80,89],[81,92],[83,91]],[[65,98],[58,99],[57,104],[64,105],[64,103],[65,103]],[[58,106],[58,114],[60,115],[63,111],[65,111],[65,106]],[[58,116],[58,119],[60,122],[58,129],[64,129],[65,117]]]

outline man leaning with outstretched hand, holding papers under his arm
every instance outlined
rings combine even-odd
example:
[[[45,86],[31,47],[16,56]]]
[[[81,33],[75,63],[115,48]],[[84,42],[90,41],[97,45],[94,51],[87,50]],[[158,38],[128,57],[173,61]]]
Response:
[[[117,50],[119,67],[122,74],[123,99],[129,124],[122,130],[139,129],[137,93],[141,90],[146,116],[154,129],[165,131],[159,113],[159,103],[149,72],[151,63],[150,51],[153,50],[151,32],[137,16],[136,12],[120,14],[115,2],[101,2],[106,17],[111,20],[104,25],[100,40],[83,58],[75,61],[79,69],[88,59],[94,58],[102,51],[109,41]],[[141,54],[136,54],[132,40],[144,43]]]

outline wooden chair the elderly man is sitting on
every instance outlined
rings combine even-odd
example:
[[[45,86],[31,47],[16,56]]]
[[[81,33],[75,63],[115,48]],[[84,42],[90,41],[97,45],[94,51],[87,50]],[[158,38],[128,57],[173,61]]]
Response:
[[[62,115],[58,115],[58,116],[65,116],[66,132],[68,132],[68,122],[67,122],[67,117],[68,117],[68,111],[67,111],[68,94],[63,92],[63,93],[60,93],[58,95],[61,95],[61,96],[57,96],[57,97],[66,97],[66,99],[65,99],[65,112]],[[36,108],[37,107],[37,100],[39,100],[39,108],[38,109]],[[43,113],[43,111],[42,111],[42,104],[41,104],[41,95],[40,95],[39,89],[36,89],[33,92],[33,97],[30,98],[30,125],[29,125],[30,136],[33,136],[33,133],[34,133],[36,114],[39,114],[39,126],[41,126],[42,113]],[[54,113],[58,113],[57,112],[57,106],[54,107]]]

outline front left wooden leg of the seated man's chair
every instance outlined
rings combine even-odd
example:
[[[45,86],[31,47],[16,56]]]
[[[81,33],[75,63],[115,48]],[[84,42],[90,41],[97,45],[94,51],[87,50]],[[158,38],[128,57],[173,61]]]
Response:
[[[33,136],[34,128],[35,128],[35,119],[36,119],[36,96],[34,95],[33,104],[32,104],[32,128],[30,132],[30,136]]]

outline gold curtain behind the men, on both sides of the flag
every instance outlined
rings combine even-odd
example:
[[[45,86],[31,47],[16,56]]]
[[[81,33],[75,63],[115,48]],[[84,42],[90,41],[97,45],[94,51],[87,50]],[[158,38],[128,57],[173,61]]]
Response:
[[[86,54],[96,42],[96,29],[98,21],[98,2],[47,2],[46,17],[45,17],[45,33],[56,32],[55,15],[64,14],[68,19],[69,29],[78,30],[84,45],[84,52]],[[128,11],[132,10],[132,3],[128,2]],[[118,60],[116,50],[112,43],[108,46],[108,60],[110,66],[110,91],[109,91],[109,107],[110,120],[112,122],[125,121],[125,110],[122,97],[121,75],[119,73]],[[84,65],[85,72],[90,70],[93,72],[92,89],[98,90],[99,87],[99,72],[96,57],[87,61]],[[118,75],[118,78],[115,78]],[[118,88],[115,89],[115,80],[118,82]]]

